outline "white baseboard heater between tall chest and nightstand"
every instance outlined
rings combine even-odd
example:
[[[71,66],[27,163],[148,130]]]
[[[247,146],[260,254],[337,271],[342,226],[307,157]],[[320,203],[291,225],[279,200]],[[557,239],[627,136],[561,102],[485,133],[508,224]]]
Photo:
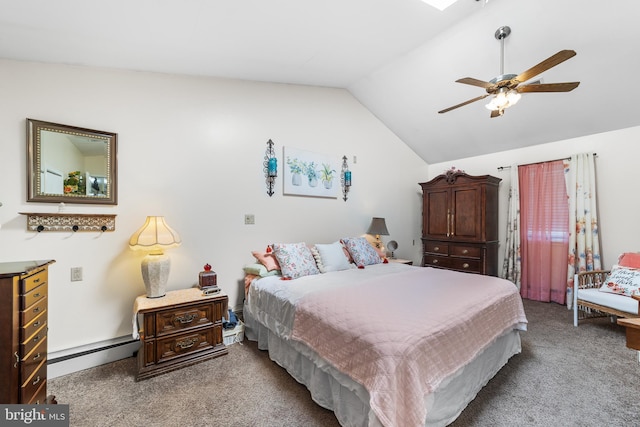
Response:
[[[48,354],[47,378],[56,378],[133,356],[140,341],[131,335]]]

